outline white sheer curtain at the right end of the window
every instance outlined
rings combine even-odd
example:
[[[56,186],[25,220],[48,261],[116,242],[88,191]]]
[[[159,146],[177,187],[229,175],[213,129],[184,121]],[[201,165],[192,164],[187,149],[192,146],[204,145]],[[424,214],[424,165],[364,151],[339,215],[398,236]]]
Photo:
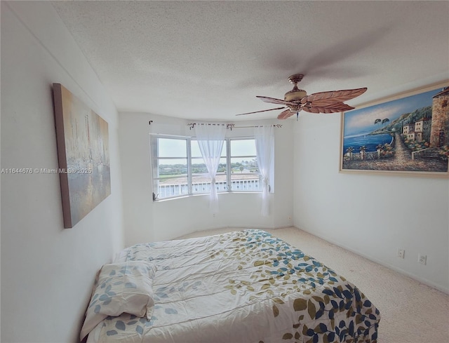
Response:
[[[274,126],[264,125],[254,128],[257,165],[262,181],[262,215],[269,215],[269,172],[274,149]]]

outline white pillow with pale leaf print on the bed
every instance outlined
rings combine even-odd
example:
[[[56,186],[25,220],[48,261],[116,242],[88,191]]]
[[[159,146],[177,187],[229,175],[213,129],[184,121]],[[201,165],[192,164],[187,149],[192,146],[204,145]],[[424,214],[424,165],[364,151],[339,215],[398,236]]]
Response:
[[[155,273],[156,266],[145,261],[103,265],[86,311],[81,340],[107,316],[120,316],[125,312],[150,320]]]

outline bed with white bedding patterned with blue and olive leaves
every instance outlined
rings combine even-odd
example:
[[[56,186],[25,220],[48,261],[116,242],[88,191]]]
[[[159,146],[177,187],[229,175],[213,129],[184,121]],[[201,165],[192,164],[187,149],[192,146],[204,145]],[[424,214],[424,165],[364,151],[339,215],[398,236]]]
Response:
[[[102,267],[81,338],[375,343],[379,321],[380,312],[344,277],[248,229],[126,248]]]

